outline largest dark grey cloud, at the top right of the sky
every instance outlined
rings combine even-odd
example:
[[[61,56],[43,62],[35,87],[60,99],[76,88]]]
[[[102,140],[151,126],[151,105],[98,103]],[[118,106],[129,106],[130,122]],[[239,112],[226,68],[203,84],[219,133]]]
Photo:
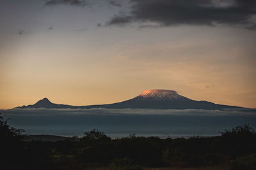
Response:
[[[108,25],[156,22],[172,25],[237,25],[255,29],[256,0],[131,0],[131,11],[115,15]]]

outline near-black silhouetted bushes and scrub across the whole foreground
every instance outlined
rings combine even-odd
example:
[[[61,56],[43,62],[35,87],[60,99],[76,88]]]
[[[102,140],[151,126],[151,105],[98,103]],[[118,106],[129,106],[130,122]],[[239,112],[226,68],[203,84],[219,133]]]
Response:
[[[83,138],[26,141],[0,115],[0,169],[256,169],[256,132],[237,126],[211,138],[111,139],[93,129]]]

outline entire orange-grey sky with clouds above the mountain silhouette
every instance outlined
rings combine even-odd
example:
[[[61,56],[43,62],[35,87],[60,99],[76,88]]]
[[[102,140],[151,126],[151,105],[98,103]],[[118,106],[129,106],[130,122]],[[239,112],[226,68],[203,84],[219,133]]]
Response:
[[[255,0],[1,0],[0,108],[168,89],[256,108]]]

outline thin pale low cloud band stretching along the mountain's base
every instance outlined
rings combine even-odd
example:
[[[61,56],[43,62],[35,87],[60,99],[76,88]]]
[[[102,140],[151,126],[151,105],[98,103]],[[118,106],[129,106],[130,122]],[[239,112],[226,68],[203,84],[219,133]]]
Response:
[[[8,115],[195,115],[195,116],[227,116],[255,115],[256,110],[154,110],[154,109],[12,109],[1,111]]]

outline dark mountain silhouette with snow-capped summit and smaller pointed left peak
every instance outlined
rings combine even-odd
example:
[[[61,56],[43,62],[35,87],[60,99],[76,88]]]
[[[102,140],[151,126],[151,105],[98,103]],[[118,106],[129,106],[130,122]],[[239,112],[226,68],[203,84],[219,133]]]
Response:
[[[214,104],[207,101],[195,101],[184,96],[180,96],[173,90],[145,90],[133,99],[113,104],[98,104],[89,106],[70,106],[67,104],[54,104],[49,99],[44,98],[33,105],[17,108],[149,108],[149,109],[202,109],[202,110],[223,110],[227,108],[241,108],[223,104]]]

